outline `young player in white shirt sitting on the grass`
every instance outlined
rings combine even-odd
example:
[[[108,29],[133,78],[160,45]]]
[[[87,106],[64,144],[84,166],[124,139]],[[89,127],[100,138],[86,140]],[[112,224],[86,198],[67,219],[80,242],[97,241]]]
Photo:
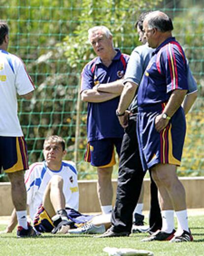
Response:
[[[78,227],[93,218],[77,211],[77,170],[72,161],[62,160],[66,153],[65,141],[59,136],[50,136],[44,142],[45,161],[35,162],[26,171],[27,204],[38,232],[67,233],[70,227]],[[16,224],[13,210],[3,233],[12,232]]]

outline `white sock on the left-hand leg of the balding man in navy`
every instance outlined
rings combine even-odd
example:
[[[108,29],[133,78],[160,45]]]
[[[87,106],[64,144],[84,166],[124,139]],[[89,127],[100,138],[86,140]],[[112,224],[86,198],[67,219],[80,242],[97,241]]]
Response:
[[[174,210],[162,210],[162,231],[171,233],[174,229]]]

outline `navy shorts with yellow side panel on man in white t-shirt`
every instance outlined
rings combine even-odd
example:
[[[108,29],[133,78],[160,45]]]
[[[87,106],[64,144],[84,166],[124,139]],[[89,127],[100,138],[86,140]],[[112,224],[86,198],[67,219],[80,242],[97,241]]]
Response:
[[[24,137],[0,136],[0,169],[12,173],[28,170],[28,152]]]

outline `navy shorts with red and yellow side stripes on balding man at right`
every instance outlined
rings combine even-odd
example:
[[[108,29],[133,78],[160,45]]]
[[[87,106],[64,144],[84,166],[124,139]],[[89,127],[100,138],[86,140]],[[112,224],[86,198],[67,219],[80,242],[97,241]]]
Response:
[[[139,109],[137,115],[137,139],[143,170],[158,163],[181,164],[186,121],[180,107],[161,132],[155,129],[155,118],[161,111],[148,112]]]

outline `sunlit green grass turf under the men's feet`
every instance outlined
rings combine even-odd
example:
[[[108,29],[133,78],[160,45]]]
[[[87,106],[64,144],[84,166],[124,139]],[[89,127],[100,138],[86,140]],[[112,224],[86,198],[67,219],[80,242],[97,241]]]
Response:
[[[204,216],[190,216],[194,242],[141,242],[147,234],[130,237],[95,238],[92,235],[49,235],[17,239],[16,232],[0,235],[0,256],[108,256],[104,247],[148,250],[155,256],[204,256]],[[3,230],[5,225],[0,225]]]

